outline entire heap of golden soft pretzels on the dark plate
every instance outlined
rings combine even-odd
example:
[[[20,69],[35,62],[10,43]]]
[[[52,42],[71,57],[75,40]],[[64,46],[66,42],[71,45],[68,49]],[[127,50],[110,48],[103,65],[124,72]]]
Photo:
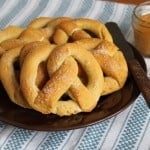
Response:
[[[0,31],[0,79],[21,107],[59,116],[91,112],[127,75],[125,58],[100,21],[40,17],[27,28]]]

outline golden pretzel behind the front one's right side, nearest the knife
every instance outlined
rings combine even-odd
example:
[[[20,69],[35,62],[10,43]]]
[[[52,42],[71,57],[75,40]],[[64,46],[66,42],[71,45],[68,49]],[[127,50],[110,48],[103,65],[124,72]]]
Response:
[[[83,39],[75,43],[91,51],[104,72],[102,95],[110,94],[123,87],[128,76],[128,68],[123,53],[115,44],[100,39]]]

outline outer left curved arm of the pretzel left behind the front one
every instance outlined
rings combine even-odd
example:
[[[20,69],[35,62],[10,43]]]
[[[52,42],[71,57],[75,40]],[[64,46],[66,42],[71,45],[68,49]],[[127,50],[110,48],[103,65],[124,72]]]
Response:
[[[0,59],[0,79],[11,101],[19,106],[29,108],[29,105],[20,90],[16,71],[13,66],[14,62],[18,59],[21,48],[22,46],[17,47],[2,55]]]

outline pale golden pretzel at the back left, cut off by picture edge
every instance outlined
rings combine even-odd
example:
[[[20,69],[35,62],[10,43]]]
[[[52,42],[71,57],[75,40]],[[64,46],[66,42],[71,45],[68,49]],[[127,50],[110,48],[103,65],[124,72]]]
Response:
[[[14,33],[13,32],[14,29]],[[0,33],[2,35],[0,41],[0,56],[7,50],[17,48],[33,41],[45,41],[49,43],[46,35],[38,29],[21,29],[10,26]]]

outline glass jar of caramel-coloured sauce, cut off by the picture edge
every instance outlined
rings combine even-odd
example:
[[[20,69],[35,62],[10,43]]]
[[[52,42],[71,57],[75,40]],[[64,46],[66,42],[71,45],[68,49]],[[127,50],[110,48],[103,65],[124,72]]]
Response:
[[[150,57],[150,1],[135,7],[132,26],[136,48],[142,55]]]

